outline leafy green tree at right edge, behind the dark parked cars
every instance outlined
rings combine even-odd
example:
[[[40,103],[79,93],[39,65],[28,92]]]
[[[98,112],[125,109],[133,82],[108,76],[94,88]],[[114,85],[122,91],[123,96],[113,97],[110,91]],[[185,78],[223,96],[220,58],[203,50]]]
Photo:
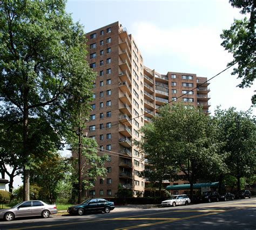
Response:
[[[219,137],[224,140],[224,151],[230,153],[226,164],[233,177],[237,178],[237,189],[240,190],[240,179],[252,177],[256,168],[256,126],[251,111],[235,111],[218,108],[215,111],[219,127]]]

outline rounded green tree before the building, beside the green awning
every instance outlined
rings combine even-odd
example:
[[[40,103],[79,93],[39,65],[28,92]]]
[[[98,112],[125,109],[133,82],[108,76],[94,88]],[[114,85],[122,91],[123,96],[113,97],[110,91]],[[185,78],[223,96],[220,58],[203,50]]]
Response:
[[[151,135],[144,137],[143,150],[153,159],[177,168],[181,172],[179,179],[190,182],[190,194],[193,184],[207,174],[212,168],[223,168],[223,159],[218,154],[217,128],[210,116],[200,109],[174,104],[164,106],[160,117],[153,120],[149,127],[142,129],[143,136],[153,126]],[[157,146],[161,154],[151,151]]]

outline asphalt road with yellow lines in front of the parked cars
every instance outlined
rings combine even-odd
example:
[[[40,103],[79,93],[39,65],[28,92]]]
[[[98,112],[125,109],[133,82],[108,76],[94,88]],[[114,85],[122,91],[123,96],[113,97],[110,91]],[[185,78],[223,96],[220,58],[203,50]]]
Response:
[[[109,214],[0,221],[0,229],[256,229],[256,198],[190,206],[115,208]]]

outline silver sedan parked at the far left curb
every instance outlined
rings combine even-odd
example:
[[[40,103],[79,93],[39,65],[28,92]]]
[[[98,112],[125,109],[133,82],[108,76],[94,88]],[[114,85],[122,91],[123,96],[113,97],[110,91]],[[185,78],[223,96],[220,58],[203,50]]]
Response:
[[[33,217],[37,215],[48,218],[50,214],[56,213],[56,205],[48,205],[41,200],[30,200],[20,202],[12,208],[0,209],[0,219],[11,221],[17,217]]]

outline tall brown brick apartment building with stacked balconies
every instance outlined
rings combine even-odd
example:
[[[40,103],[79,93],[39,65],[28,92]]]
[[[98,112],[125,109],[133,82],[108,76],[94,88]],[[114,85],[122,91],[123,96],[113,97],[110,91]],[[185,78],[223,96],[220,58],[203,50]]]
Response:
[[[87,137],[95,138],[102,153],[109,154],[106,178],[99,178],[90,195],[113,197],[118,185],[136,196],[144,193],[146,180],[139,177],[147,160],[134,141],[139,129],[157,116],[159,107],[206,81],[194,74],[161,75],[144,66],[132,35],[116,22],[86,35],[87,60],[98,73]],[[208,83],[182,96],[188,105],[203,105],[208,113]]]

